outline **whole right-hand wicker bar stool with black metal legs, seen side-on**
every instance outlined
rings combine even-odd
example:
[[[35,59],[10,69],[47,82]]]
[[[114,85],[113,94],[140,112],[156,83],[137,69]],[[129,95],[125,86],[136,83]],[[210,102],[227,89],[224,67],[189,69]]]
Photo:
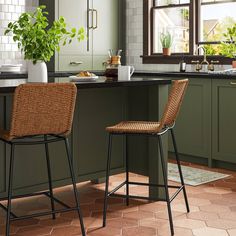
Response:
[[[126,198],[126,204],[129,205],[129,198],[140,198],[140,199],[150,199],[148,197],[142,196],[133,196],[129,194],[129,185],[142,185],[142,186],[157,186],[157,187],[164,187],[165,190],[165,199],[164,201],[167,202],[167,209],[169,215],[169,223],[170,223],[170,230],[171,235],[174,235],[174,226],[173,226],[173,219],[171,213],[171,201],[183,190],[185,204],[187,212],[189,212],[189,204],[184,184],[184,179],[181,171],[180,160],[178,156],[177,145],[175,141],[174,131],[173,128],[175,126],[175,120],[177,118],[178,112],[180,110],[180,106],[188,85],[188,80],[175,80],[172,82],[172,89],[169,94],[168,103],[165,107],[163,116],[160,122],[151,122],[151,121],[122,121],[119,124],[114,126],[110,126],[106,128],[106,131],[109,133],[109,143],[108,143],[108,158],[107,158],[107,168],[106,168],[106,187],[105,187],[105,198],[104,198],[104,210],[103,210],[103,227],[106,226],[106,212],[107,212],[107,202],[108,197],[110,196],[121,196],[120,194],[115,194],[115,192],[123,186],[126,186],[126,195],[122,196]],[[164,154],[163,154],[163,147],[162,147],[162,135],[167,133],[167,131],[171,132],[171,137],[174,145],[176,161],[178,165],[181,185],[180,186],[171,186],[168,185],[167,173],[166,173],[166,166],[164,162]],[[109,176],[110,176],[110,163],[111,163],[111,148],[112,148],[112,137],[113,135],[125,135],[126,137],[126,149],[127,149],[127,136],[129,135],[146,135],[148,137],[156,137],[159,145],[160,151],[160,159],[162,165],[162,174],[163,174],[163,185],[159,184],[152,184],[152,183],[139,183],[139,182],[131,182],[129,181],[129,166],[128,166],[128,155],[126,151],[126,180],[117,186],[112,191],[108,192],[109,186]],[[177,191],[173,194],[172,197],[169,196],[168,188],[175,188]],[[163,200],[163,199],[160,199]]]

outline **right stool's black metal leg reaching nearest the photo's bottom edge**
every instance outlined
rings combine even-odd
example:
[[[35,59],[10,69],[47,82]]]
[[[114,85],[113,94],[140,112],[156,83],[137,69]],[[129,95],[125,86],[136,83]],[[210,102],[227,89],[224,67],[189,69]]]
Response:
[[[161,136],[157,136],[157,139],[158,139],[159,149],[160,149],[160,158],[161,158],[161,165],[162,165],[163,182],[164,182],[164,187],[165,187],[167,210],[168,210],[169,221],[170,221],[170,231],[171,231],[171,235],[174,235],[174,225],[173,225],[171,206],[170,206],[170,196],[169,196],[169,190],[168,190],[168,179],[167,179],[167,172],[166,172],[166,166],[165,166],[165,161],[164,161],[164,153],[163,153]]]

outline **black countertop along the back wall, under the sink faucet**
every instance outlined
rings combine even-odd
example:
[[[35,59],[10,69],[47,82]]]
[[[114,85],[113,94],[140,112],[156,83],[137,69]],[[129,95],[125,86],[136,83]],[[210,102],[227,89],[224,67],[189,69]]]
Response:
[[[96,75],[104,75],[103,71],[94,71]],[[76,74],[75,72],[49,72],[50,77],[67,77]],[[213,74],[207,72],[177,72],[177,71],[136,71],[134,76],[154,76],[154,77],[178,77],[178,78],[216,78],[216,79],[236,79],[236,74]],[[26,79],[27,73],[0,73],[0,79]]]

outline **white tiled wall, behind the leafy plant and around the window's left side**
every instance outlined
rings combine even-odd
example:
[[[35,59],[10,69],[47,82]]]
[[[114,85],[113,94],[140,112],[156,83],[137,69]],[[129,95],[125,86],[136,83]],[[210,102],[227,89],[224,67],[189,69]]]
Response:
[[[52,0],[48,0],[52,1]],[[127,64],[136,70],[168,71],[178,70],[178,65],[142,64],[143,53],[143,1],[126,0],[126,57]],[[0,0],[0,65],[21,63],[25,66],[23,55],[13,42],[12,37],[4,36],[4,30],[10,21],[18,19],[25,11],[33,11],[38,0]],[[187,70],[194,70],[189,65]]]

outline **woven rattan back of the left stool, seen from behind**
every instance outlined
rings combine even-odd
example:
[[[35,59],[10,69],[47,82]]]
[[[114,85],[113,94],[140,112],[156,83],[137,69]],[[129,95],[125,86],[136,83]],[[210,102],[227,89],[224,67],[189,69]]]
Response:
[[[23,84],[14,94],[10,137],[68,135],[77,88],[73,83]]]

